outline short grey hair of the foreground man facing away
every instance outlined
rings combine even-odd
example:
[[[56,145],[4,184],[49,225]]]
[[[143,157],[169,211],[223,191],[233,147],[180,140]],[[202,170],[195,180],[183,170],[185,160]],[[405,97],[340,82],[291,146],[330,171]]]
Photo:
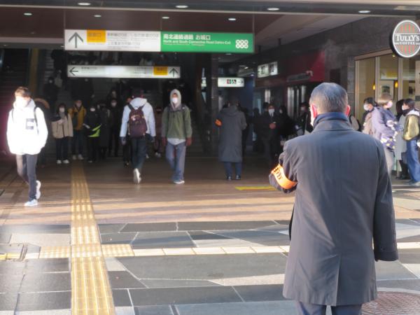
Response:
[[[318,113],[344,113],[349,104],[346,90],[336,83],[321,83],[314,88],[310,99]]]

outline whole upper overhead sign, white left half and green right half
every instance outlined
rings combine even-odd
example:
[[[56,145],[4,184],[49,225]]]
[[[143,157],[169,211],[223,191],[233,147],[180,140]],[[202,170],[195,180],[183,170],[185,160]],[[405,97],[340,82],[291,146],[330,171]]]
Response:
[[[251,53],[254,51],[254,43],[253,34],[248,33],[66,29],[64,49]]]

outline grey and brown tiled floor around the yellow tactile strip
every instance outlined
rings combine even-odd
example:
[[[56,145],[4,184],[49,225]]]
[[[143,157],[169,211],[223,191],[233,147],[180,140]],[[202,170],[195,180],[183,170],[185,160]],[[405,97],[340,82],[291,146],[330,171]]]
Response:
[[[134,250],[104,259],[115,314],[295,314],[293,302],[281,294],[293,196],[237,190],[209,159],[190,160],[187,185],[181,187],[164,181],[169,178],[164,161],[146,165],[141,186],[130,183],[130,170],[119,160],[85,167],[101,243]],[[18,179],[0,195],[0,258],[10,244],[23,258],[0,261],[0,315],[71,314],[71,259],[38,255],[46,246],[68,248],[70,255],[70,170],[51,166],[40,172],[43,198],[36,209],[22,208],[26,188]],[[267,186],[264,169],[250,163],[245,174],[241,186]],[[395,188],[400,260],[377,262],[377,286],[381,292],[416,295],[420,208],[414,198],[420,190],[402,183]],[[273,251],[279,246],[281,251]],[[162,255],[136,256],[153,248]],[[183,248],[183,255],[170,248]],[[225,250],[209,255],[215,248]],[[244,248],[260,251],[237,253]],[[388,303],[387,296],[379,303]]]

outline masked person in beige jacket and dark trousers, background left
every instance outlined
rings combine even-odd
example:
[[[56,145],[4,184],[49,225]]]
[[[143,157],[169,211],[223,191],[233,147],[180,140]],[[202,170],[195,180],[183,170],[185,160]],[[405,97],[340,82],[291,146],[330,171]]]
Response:
[[[69,139],[73,137],[73,123],[66,104],[59,104],[57,113],[52,118],[51,129],[55,139],[57,164],[69,164]]]

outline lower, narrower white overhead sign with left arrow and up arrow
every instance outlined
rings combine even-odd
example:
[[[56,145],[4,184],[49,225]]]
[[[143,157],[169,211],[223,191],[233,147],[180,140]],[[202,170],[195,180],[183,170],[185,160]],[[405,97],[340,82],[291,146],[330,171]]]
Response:
[[[69,78],[181,78],[179,66],[67,66]]]

